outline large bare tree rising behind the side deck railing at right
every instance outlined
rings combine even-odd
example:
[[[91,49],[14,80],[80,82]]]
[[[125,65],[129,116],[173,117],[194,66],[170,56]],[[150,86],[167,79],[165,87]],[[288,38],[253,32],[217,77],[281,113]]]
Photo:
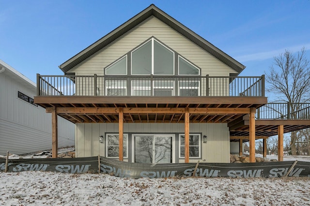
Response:
[[[274,57],[274,63],[266,74],[268,91],[276,97],[275,102],[288,102],[291,118],[298,110],[295,104],[310,100],[310,62],[306,57],[305,48],[297,54],[285,50],[283,54]],[[296,155],[297,131],[291,132],[292,155]]]

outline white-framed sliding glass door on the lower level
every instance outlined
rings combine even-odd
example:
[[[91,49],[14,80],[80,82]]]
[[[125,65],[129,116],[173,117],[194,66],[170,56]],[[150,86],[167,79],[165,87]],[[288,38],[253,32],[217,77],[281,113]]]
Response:
[[[134,161],[140,163],[173,162],[174,135],[134,135]]]

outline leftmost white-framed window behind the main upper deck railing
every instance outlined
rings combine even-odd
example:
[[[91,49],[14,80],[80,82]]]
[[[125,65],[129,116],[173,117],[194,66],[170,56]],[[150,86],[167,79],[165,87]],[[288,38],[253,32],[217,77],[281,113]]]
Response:
[[[125,96],[127,95],[126,80],[106,80],[107,96]]]

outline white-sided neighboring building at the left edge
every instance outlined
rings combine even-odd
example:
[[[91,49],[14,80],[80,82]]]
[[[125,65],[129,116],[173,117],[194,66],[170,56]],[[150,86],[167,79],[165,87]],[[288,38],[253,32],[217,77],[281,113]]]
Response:
[[[51,149],[51,115],[34,104],[36,84],[0,60],[0,155]],[[59,119],[59,146],[75,144],[75,125]]]

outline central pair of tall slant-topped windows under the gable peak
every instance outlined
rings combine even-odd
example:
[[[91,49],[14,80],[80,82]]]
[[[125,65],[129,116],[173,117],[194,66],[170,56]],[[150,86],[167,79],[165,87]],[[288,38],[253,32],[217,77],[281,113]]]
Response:
[[[174,52],[154,38],[131,52],[132,75],[174,75]]]

